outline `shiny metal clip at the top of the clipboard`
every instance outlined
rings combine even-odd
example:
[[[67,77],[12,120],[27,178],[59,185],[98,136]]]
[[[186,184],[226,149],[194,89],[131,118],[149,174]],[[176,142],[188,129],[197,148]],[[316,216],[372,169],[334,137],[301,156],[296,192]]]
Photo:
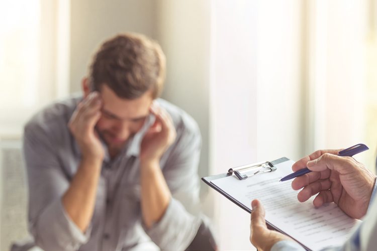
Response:
[[[268,173],[276,170],[276,167],[269,161],[248,164],[245,166],[230,168],[228,174],[235,175],[239,180],[247,179],[260,173]]]

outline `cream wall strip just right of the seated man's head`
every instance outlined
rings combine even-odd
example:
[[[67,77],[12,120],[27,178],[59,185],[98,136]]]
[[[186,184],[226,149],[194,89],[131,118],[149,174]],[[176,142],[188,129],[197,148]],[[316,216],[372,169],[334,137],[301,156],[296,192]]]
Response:
[[[210,1],[158,1],[158,41],[166,54],[162,97],[198,122],[203,139],[199,176],[209,173]],[[202,193],[208,187],[202,184]]]

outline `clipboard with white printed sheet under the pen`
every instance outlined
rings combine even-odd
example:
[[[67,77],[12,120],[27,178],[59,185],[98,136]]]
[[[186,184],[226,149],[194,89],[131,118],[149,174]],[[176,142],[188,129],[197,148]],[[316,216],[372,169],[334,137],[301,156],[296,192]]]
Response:
[[[319,157],[311,155],[306,162],[304,159],[300,161],[302,166],[305,166],[309,160]],[[227,174],[205,177],[203,180],[248,212],[251,212],[250,202],[260,199],[266,208],[266,223],[291,236],[307,249],[342,244],[351,228],[359,221],[349,218],[334,203],[314,208],[312,200],[305,203],[297,201],[297,192],[291,189],[292,182],[278,181],[291,173],[293,164],[294,162],[287,158],[280,158],[232,168]],[[314,174],[313,172],[310,175]],[[321,227],[323,225],[326,227]],[[331,236],[333,231],[337,231],[338,235],[329,239],[328,236]]]

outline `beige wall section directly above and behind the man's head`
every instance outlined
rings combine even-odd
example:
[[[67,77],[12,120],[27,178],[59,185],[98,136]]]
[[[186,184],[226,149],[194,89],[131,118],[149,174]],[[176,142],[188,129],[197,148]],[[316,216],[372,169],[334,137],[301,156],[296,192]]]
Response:
[[[117,33],[132,31],[156,38],[154,0],[71,1],[70,92],[81,90],[81,79],[101,43]]]

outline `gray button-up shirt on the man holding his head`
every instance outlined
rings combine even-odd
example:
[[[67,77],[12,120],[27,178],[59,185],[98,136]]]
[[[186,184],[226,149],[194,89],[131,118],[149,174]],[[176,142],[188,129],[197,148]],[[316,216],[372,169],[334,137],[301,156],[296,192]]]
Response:
[[[80,162],[80,149],[67,123],[82,97],[55,103],[26,125],[24,155],[29,181],[29,228],[45,250],[185,249],[200,225],[201,136],[195,120],[171,103],[157,102],[171,115],[177,137],[160,166],[172,199],[162,216],[146,229],[141,218],[139,150],[152,120],[114,159],[107,154],[98,183],[95,210],[85,233],[69,218],[61,198]],[[105,145],[104,145],[105,146]],[[106,146],[105,146],[106,149]]]

